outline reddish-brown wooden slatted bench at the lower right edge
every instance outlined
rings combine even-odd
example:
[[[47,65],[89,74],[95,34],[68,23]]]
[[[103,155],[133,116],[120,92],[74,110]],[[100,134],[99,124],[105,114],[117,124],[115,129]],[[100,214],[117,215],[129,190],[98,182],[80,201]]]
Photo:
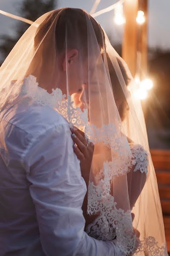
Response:
[[[170,151],[150,150],[158,181],[167,249],[170,252]]]

